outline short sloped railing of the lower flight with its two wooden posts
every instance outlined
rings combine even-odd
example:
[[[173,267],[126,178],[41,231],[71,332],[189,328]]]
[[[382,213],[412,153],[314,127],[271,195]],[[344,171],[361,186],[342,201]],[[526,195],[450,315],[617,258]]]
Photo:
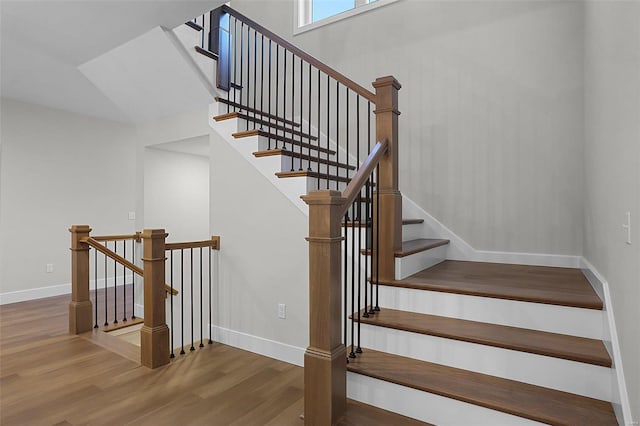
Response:
[[[401,86],[393,77],[379,78],[373,86],[377,100],[376,136],[380,142],[376,143],[343,192],[313,191],[303,197],[309,205],[309,347],[305,352],[304,369],[305,425],[333,425],[343,416],[346,409],[345,360],[357,356],[362,350],[360,315],[375,314],[376,308],[379,309],[377,281],[395,278],[394,253],[402,244],[402,197],[398,191],[397,167],[398,90]],[[343,238],[340,227],[345,213],[349,209],[353,211],[354,201],[358,208],[362,205],[357,201],[362,198],[363,188],[374,184],[371,228],[374,233],[369,237],[367,232],[366,237],[367,244],[371,243],[371,269],[368,269],[365,259],[363,279],[360,276],[361,256],[357,255],[361,250],[358,247],[356,251],[354,244],[356,239],[358,244],[361,242],[361,236],[356,238],[353,233],[355,221],[351,222],[351,265],[348,264],[347,234]],[[369,208],[369,203],[366,206]],[[346,228],[349,222],[344,220]],[[356,257],[358,265],[354,263]],[[357,279],[354,277],[356,274]],[[368,274],[370,287],[366,283]],[[351,300],[350,309],[347,307],[348,299]],[[351,322],[351,330],[344,325],[348,315],[355,320]],[[347,334],[351,336],[348,355]]]

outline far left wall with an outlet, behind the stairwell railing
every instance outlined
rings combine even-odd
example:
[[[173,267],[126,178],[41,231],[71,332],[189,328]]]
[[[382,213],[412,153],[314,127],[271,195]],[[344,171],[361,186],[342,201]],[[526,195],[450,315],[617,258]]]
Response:
[[[0,127],[2,300],[70,291],[71,225],[95,235],[135,230],[135,129],[5,98]]]

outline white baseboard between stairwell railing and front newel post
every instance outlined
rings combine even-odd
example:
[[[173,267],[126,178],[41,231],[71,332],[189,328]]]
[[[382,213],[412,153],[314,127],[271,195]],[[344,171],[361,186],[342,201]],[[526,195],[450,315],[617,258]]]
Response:
[[[216,342],[288,362],[289,364],[304,366],[304,348],[215,325],[211,326],[211,333],[213,340]]]

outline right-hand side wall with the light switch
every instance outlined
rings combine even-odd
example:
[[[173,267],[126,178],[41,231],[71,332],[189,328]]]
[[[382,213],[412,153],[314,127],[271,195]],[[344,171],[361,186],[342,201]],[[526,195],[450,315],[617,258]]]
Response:
[[[585,9],[585,247],[606,277],[633,420],[640,421],[640,3]],[[632,245],[625,243],[631,212]],[[630,421],[631,419],[627,419]]]

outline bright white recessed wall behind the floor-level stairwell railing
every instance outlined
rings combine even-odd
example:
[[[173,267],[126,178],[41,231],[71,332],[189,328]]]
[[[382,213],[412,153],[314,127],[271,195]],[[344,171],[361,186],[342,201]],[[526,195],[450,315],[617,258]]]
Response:
[[[154,148],[144,154],[144,227],[164,228],[171,242],[208,239],[209,157]]]

